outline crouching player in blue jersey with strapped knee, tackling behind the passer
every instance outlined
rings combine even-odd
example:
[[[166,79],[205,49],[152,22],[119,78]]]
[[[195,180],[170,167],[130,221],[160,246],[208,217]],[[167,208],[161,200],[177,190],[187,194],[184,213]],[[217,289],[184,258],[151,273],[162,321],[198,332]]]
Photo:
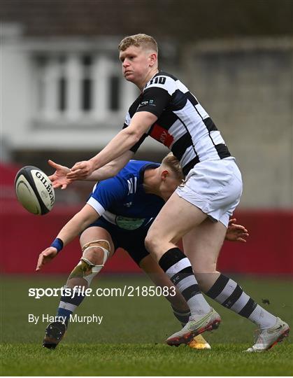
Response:
[[[69,169],[54,162],[51,165],[57,169],[51,176],[55,188],[64,188],[70,183],[66,179]],[[95,175],[92,174],[90,179],[96,179]],[[171,302],[176,318],[185,325],[190,316],[187,302],[174,290],[173,283],[144,245],[152,221],[182,180],[180,165],[172,154],[167,155],[161,165],[131,160],[116,176],[94,186],[85,207],[66,223],[52,245],[40,254],[36,270],[50,262],[64,245],[81,234],[83,256],[71,272],[66,288],[73,291],[76,286],[88,288],[106,260],[122,247],[157,286],[169,288],[166,299]],[[229,240],[245,241],[247,236],[247,230],[241,225],[231,224],[227,232]],[[66,331],[70,315],[83,299],[83,293],[78,292],[61,297],[57,316],[64,322],[48,325],[43,346],[50,349],[57,346]],[[194,337],[190,346],[196,349],[210,347],[201,335]]]

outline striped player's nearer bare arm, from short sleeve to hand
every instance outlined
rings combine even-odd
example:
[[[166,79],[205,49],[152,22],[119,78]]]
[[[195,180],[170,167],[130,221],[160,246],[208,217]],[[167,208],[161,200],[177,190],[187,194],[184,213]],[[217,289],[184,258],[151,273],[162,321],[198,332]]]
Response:
[[[73,165],[67,177],[71,180],[85,179],[92,174],[94,170],[100,169],[107,163],[126,153],[141,139],[143,134],[156,120],[157,116],[148,111],[135,113],[128,127],[121,130],[100,153],[94,156],[94,158],[77,162]]]

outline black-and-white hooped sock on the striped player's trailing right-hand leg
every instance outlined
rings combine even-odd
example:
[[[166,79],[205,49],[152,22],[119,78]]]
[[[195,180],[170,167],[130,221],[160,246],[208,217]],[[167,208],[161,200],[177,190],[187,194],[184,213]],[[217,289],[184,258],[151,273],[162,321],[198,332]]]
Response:
[[[220,274],[206,295],[236,314],[250,319],[260,328],[271,328],[276,324],[276,316],[259,306],[237,282],[224,274]]]

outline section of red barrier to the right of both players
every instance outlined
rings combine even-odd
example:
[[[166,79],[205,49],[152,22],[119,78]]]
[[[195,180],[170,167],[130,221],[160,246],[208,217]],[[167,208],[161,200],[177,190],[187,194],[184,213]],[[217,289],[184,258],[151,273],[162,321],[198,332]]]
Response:
[[[293,211],[237,211],[238,223],[248,229],[248,241],[225,241],[218,262],[223,272],[292,274]]]

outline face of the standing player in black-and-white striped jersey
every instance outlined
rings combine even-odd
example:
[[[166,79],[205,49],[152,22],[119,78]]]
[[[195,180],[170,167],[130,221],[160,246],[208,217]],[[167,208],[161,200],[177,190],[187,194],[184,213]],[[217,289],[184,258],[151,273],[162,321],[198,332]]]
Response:
[[[150,51],[136,46],[129,46],[126,50],[120,51],[124,78],[138,86],[145,83],[153,66],[151,55]]]

